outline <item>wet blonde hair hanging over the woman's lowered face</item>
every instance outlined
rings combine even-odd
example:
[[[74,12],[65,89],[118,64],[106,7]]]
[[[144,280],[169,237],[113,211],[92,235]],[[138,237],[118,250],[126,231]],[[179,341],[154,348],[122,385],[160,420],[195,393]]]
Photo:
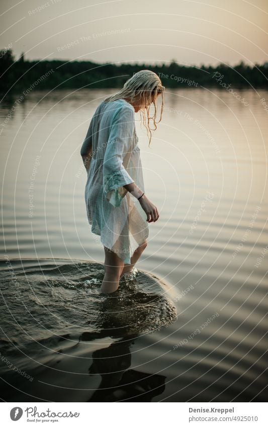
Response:
[[[136,72],[132,77],[130,77],[124,84],[123,88],[120,89],[115,95],[110,95],[105,98],[104,102],[112,102],[118,99],[124,98],[132,102],[139,102],[140,105],[140,115],[141,121],[147,131],[147,136],[149,138],[149,146],[152,138],[152,130],[156,129],[156,123],[159,123],[162,118],[162,111],[164,106],[163,92],[165,87],[162,86],[159,76],[150,70],[141,70]],[[155,121],[157,115],[157,96],[161,94],[162,103],[161,103],[161,112],[160,119],[158,122]],[[149,117],[149,108],[150,105],[154,105],[154,114],[153,117]],[[147,117],[145,117],[145,110]],[[154,129],[150,128],[150,120],[153,120]]]

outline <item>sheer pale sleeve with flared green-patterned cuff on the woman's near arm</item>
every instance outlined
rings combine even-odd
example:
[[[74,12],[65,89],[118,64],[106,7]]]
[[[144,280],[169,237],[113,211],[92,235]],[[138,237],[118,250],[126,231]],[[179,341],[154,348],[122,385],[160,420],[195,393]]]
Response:
[[[121,107],[113,118],[103,164],[104,195],[114,207],[120,206],[127,193],[123,186],[134,182],[123,165],[126,153],[131,150],[134,128],[134,110]]]

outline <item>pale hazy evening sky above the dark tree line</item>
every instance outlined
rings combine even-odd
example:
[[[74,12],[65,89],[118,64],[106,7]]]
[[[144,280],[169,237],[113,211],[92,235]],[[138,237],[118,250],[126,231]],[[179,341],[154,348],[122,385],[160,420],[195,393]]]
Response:
[[[16,59],[268,61],[267,0],[1,0],[0,14]]]

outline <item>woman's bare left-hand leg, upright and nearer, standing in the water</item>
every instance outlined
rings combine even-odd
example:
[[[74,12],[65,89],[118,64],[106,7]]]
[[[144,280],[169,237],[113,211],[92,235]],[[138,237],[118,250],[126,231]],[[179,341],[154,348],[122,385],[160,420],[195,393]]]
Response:
[[[101,292],[111,294],[118,289],[119,279],[124,262],[111,249],[104,246],[105,262],[104,262],[104,279],[101,286]]]

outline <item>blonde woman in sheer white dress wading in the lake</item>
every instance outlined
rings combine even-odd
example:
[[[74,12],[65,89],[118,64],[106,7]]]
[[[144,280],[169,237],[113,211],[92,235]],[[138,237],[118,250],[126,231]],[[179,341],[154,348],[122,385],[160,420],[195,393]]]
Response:
[[[121,276],[133,269],[147,245],[148,222],[159,218],[156,206],[144,194],[134,113],[142,114],[150,145],[149,120],[155,130],[157,96],[162,95],[160,121],[163,91],[153,71],[135,73],[118,93],[98,106],[81,147],[87,170],[87,218],[105,250],[103,293],[115,292]],[[149,117],[152,103],[154,115]]]

